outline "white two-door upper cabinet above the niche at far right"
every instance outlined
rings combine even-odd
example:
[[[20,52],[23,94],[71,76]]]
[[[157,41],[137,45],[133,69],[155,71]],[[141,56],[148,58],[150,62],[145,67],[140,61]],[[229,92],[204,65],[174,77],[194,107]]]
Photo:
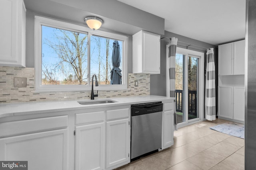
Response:
[[[244,74],[245,41],[236,41],[218,46],[218,74]]]

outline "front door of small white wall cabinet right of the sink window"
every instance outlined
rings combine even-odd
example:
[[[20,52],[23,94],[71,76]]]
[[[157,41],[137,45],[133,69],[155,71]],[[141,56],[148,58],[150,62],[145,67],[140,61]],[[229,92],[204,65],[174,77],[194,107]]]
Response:
[[[143,32],[143,72],[160,74],[160,35]]]

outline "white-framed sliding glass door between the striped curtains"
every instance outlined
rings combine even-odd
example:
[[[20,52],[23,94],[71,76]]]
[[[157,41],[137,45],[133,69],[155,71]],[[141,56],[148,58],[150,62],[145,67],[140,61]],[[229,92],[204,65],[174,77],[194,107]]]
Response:
[[[204,92],[204,71],[203,67],[200,68],[200,64],[203,61],[204,55],[196,51],[195,54],[191,53],[191,50],[177,48],[175,97],[178,126],[198,121],[201,119],[200,111],[203,111],[202,109],[200,110],[200,107],[202,108],[203,106],[203,97],[200,94]],[[201,78],[202,80],[200,80]]]

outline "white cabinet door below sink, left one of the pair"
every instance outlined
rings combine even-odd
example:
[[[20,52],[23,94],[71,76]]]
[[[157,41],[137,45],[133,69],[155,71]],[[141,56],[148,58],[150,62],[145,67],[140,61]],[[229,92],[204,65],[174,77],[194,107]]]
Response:
[[[104,169],[104,123],[76,127],[76,170]]]

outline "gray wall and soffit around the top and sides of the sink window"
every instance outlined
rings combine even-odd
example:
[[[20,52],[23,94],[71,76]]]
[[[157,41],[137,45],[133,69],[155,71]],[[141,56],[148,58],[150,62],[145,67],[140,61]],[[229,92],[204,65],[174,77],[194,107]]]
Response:
[[[100,30],[128,36],[128,73],[132,73],[132,35],[141,29],[164,34],[164,19],[116,0],[24,0],[26,66],[34,67],[34,16],[44,16],[87,27],[86,16],[104,20]]]

